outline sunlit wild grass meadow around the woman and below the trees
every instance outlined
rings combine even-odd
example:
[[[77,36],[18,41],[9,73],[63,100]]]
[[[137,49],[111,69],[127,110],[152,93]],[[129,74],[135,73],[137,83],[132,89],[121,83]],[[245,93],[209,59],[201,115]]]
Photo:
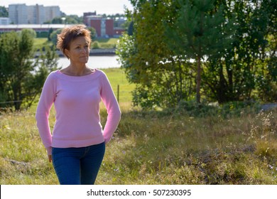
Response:
[[[115,92],[120,85],[122,117],[97,184],[277,184],[277,109],[224,117],[141,112],[131,107],[134,85],[124,72],[104,71]],[[35,110],[0,114],[1,185],[58,184]],[[51,128],[54,120],[51,112]]]

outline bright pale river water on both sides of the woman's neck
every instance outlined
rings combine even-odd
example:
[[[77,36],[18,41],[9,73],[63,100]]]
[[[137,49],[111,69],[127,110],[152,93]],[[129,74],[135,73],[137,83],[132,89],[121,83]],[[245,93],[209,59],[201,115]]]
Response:
[[[93,55],[89,56],[87,66],[89,68],[120,68],[119,62],[116,60],[119,58],[117,55]],[[58,59],[58,66],[66,68],[70,64],[70,60],[62,57]]]

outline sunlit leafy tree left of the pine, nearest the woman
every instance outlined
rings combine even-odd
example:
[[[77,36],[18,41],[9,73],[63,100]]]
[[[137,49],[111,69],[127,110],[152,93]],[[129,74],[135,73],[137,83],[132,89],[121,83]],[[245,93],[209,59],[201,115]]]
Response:
[[[145,2],[131,16],[133,35],[124,35],[117,46],[122,68],[136,84],[134,105],[145,109],[173,107],[194,93],[191,63],[165,44],[163,20],[171,14],[163,2]]]

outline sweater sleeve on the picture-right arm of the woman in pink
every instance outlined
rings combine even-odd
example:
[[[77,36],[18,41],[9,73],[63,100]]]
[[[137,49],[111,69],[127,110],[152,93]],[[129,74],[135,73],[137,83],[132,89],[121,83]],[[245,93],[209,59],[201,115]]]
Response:
[[[106,75],[103,75],[102,77],[102,89],[100,95],[108,113],[107,122],[103,131],[105,143],[108,143],[112,139],[112,134],[116,131],[119,124],[121,111]]]

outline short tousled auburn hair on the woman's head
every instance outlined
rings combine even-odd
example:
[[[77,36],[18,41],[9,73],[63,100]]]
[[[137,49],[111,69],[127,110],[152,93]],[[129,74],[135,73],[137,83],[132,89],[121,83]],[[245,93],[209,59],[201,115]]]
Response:
[[[63,31],[58,34],[57,48],[68,58],[65,54],[65,49],[70,50],[70,43],[75,40],[75,38],[80,36],[87,38],[90,45],[92,39],[90,38],[90,31],[87,30],[86,26],[79,24],[63,28]]]

